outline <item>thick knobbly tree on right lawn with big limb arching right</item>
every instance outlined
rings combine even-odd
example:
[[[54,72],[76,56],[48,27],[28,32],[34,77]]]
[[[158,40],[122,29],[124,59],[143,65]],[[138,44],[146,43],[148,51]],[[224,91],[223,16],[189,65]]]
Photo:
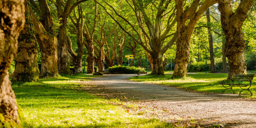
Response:
[[[174,60],[175,66],[172,77],[188,76],[187,66],[190,60],[190,38],[194,27],[203,12],[217,3],[217,0],[207,0],[200,4],[199,2],[200,0],[194,0],[190,7],[184,10],[184,0],[175,0],[178,36],[176,43],[177,52]]]

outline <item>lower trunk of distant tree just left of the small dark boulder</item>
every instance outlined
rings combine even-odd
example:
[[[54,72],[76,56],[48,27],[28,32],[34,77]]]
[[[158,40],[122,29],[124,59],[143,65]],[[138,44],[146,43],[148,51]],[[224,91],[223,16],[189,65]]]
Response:
[[[88,57],[87,57],[87,73],[94,72],[94,48],[93,48],[93,41],[87,40],[87,50],[88,50]]]

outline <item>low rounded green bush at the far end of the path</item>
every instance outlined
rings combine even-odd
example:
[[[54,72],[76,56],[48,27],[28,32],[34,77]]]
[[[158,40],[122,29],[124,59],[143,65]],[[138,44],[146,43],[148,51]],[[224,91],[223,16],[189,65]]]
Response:
[[[129,67],[129,66],[113,66],[113,67],[109,67],[108,71],[110,73],[124,73],[124,74],[135,74],[137,72],[146,72],[146,70],[144,68],[137,68],[137,67]]]

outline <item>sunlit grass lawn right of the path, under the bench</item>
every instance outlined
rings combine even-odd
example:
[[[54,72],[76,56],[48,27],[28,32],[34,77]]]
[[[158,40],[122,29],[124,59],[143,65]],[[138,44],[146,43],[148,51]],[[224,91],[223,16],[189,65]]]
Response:
[[[227,78],[227,73],[198,73],[197,74],[188,74],[189,77],[180,78],[180,79],[171,79],[172,74],[165,74],[164,76],[158,75],[143,75],[139,78],[130,77],[130,80],[139,81],[144,83],[156,83],[163,84],[167,86],[175,86],[181,89],[190,90],[190,91],[201,91],[201,92],[213,92],[213,93],[222,93],[225,89],[222,85],[219,85],[223,79]],[[250,91],[253,93],[253,96],[248,96],[250,98],[256,98],[256,82],[252,82],[252,87]],[[233,90],[236,94],[239,94],[242,91],[239,87],[233,87]],[[226,90],[224,93],[232,93],[230,89]],[[243,91],[242,94],[250,94],[249,91]]]

